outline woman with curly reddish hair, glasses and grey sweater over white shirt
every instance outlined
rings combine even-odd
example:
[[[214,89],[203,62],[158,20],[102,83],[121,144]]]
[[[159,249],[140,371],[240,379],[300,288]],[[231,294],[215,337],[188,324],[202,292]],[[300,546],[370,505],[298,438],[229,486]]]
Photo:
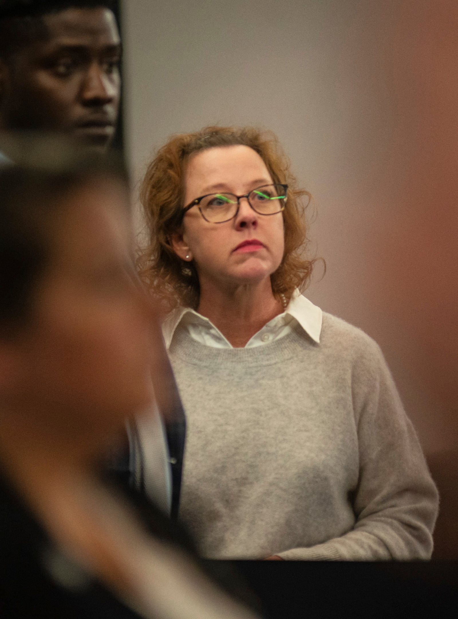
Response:
[[[140,270],[187,413],[180,519],[208,558],[431,556],[438,496],[378,345],[303,297],[303,198],[271,134],[161,148]]]

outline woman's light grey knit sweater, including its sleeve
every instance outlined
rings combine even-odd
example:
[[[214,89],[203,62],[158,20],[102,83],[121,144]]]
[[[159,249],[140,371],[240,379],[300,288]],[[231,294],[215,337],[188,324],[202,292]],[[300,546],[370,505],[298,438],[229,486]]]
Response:
[[[438,510],[378,345],[323,314],[257,348],[169,349],[187,413],[180,518],[208,558],[427,559]]]

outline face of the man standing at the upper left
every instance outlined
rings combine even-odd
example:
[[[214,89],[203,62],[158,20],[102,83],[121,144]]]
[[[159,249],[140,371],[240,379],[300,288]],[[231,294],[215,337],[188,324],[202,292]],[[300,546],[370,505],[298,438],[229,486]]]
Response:
[[[43,17],[48,36],[0,60],[0,129],[66,132],[106,147],[116,131],[121,41],[102,7]]]

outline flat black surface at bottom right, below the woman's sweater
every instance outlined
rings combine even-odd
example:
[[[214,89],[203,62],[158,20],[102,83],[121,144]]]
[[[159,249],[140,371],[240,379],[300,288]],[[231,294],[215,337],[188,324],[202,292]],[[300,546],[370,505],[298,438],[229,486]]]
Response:
[[[227,563],[257,595],[265,619],[458,616],[456,561]]]

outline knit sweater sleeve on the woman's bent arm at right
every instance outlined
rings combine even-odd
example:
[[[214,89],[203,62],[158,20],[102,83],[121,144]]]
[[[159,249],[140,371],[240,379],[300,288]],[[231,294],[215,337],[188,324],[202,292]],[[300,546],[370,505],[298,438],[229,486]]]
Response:
[[[309,548],[292,548],[279,556],[290,560],[427,560],[433,550],[438,491],[373,340],[354,363],[352,395],[360,466],[352,497],[354,528],[341,537]]]

